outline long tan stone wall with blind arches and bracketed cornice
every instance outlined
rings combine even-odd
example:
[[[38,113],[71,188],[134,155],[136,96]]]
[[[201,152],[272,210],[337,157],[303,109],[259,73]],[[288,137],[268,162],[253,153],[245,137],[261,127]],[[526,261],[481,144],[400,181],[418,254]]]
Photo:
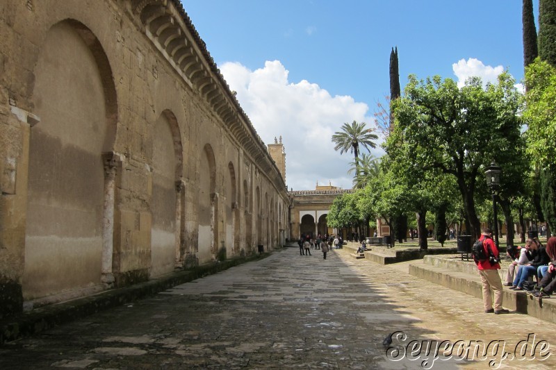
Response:
[[[178,0],[2,1],[0,34],[0,317],[284,242],[284,179]]]

